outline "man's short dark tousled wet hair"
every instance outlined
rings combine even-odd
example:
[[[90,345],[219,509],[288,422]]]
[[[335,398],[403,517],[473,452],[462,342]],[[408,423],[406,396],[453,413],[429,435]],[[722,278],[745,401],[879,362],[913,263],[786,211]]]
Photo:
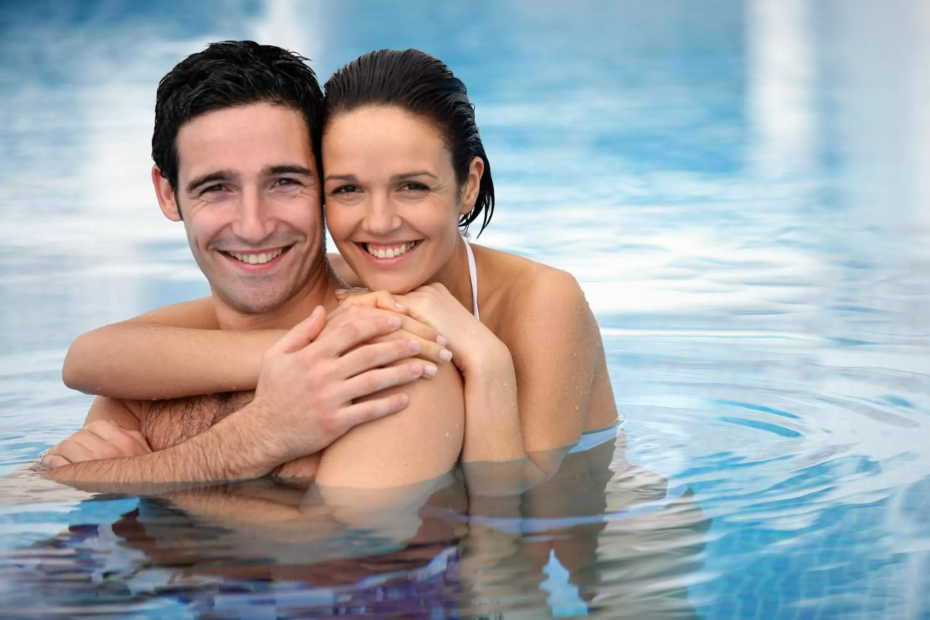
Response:
[[[152,159],[172,190],[178,190],[181,125],[206,112],[252,103],[275,103],[301,112],[319,167],[323,92],[306,60],[255,41],[221,41],[175,65],[158,83],[152,135]]]

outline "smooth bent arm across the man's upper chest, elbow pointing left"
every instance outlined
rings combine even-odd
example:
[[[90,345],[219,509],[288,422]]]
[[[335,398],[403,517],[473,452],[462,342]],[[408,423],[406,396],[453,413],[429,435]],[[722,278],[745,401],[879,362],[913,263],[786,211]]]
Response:
[[[286,330],[220,330],[210,297],[87,332],[65,357],[65,385],[155,400],[255,389],[262,354]]]

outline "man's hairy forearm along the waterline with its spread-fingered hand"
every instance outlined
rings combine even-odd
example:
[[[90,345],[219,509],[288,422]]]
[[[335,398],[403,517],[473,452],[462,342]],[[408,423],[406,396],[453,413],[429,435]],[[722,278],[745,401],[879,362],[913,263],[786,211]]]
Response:
[[[435,366],[381,367],[415,354],[419,342],[365,345],[396,331],[400,318],[376,315],[352,321],[353,314],[347,314],[346,321],[321,335],[325,312],[322,307],[314,310],[265,354],[255,400],[206,432],[161,452],[66,465],[49,470],[46,477],[82,488],[87,483],[256,478],[318,452],[354,426],[404,409],[403,393],[354,401],[410,383],[424,372],[434,374]]]

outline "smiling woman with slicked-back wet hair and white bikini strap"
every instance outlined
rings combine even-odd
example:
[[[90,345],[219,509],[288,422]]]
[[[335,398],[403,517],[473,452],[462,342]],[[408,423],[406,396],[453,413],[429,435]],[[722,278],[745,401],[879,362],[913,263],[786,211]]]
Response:
[[[387,291],[345,304],[408,312],[445,336],[465,379],[466,460],[495,460],[469,458],[487,455],[491,425],[522,433],[532,457],[616,423],[600,332],[575,279],[472,247],[459,233],[478,218],[484,229],[494,188],[465,86],[445,64],[418,50],[355,59],[326,84],[322,139],[326,218],[352,270],[344,275]],[[194,304],[192,313],[203,309]],[[173,310],[178,326],[203,323],[183,314]],[[96,350],[84,336],[81,354],[66,364],[82,366],[86,376],[120,329],[98,330]],[[162,382],[185,375],[180,353],[178,359],[164,368]],[[107,376],[95,378],[105,395]],[[140,390],[152,378],[140,376]],[[254,387],[237,380],[228,389]],[[119,389],[126,393],[126,385]],[[534,460],[551,471],[551,462]]]

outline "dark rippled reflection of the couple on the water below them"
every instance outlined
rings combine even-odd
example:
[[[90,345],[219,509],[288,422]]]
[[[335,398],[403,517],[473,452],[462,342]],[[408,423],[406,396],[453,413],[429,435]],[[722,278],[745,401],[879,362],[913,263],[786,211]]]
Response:
[[[709,521],[622,454],[568,455],[522,495],[476,496],[449,474],[334,507],[265,479],[128,500],[113,522],[95,505],[127,500],[99,496],[87,522],[5,554],[3,595],[60,617],[153,601],[198,617],[697,617],[684,576]]]

